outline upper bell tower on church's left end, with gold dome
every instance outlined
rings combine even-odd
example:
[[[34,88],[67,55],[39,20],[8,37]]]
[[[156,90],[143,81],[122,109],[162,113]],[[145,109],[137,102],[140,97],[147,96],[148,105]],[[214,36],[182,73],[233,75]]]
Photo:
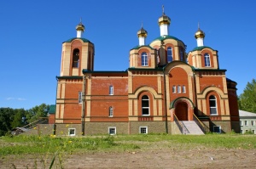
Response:
[[[93,70],[94,44],[83,38],[82,21],[76,26],[77,37],[62,43],[61,76],[83,76],[82,70]]]

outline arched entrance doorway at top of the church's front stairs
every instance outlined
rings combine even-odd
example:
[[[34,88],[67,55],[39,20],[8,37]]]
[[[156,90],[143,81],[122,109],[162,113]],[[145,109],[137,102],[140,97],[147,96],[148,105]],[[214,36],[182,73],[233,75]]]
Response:
[[[174,120],[174,114],[179,116],[184,121],[193,121],[193,113],[195,106],[193,102],[188,98],[177,98],[170,104],[171,121]],[[183,115],[177,114],[177,111],[182,111]]]

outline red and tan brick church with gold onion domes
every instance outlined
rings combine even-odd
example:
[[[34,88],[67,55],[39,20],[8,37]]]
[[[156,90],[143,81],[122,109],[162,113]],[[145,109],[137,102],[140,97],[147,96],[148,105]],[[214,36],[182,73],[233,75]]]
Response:
[[[198,28],[197,46],[187,53],[184,42],[169,35],[164,12],[158,23],[160,37],[149,44],[148,32],[137,31],[125,71],[94,70],[94,43],[83,37],[82,23],[76,26],[77,37],[62,43],[49,114],[55,134],[240,132],[236,82],[219,68],[218,51],[204,45],[205,33]]]

